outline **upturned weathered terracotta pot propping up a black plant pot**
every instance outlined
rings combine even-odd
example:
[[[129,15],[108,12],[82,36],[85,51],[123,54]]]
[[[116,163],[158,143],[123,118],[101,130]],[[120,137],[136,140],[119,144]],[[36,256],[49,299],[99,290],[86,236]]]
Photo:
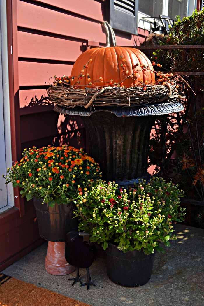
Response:
[[[65,259],[65,242],[48,242],[45,257],[45,270],[52,275],[72,273],[76,267],[71,266]]]

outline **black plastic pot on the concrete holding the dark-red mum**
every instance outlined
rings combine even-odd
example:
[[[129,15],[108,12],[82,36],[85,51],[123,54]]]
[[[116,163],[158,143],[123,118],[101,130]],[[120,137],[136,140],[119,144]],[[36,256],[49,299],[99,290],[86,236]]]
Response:
[[[156,251],[145,255],[143,250],[124,253],[116,245],[108,243],[106,265],[109,279],[124,287],[138,287],[146,284],[152,274]]]

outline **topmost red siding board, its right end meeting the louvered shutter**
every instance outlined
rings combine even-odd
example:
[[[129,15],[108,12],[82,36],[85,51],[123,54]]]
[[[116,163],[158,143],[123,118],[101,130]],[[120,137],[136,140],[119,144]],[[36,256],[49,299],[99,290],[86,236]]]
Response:
[[[79,14],[81,16],[86,16],[88,18],[104,21],[105,18],[105,2],[95,1],[95,0],[34,0],[35,2],[40,2],[48,4],[54,7],[59,7],[66,11]]]

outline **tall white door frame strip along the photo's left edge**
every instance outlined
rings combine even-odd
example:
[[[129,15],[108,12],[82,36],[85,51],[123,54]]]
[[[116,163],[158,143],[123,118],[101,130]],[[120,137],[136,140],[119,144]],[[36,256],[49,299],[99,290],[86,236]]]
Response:
[[[3,193],[3,196],[0,196],[1,214],[14,206],[13,186],[11,183],[5,185],[5,179],[2,178],[3,174],[7,174],[7,168],[12,166],[6,0],[0,0],[0,30],[0,192]]]

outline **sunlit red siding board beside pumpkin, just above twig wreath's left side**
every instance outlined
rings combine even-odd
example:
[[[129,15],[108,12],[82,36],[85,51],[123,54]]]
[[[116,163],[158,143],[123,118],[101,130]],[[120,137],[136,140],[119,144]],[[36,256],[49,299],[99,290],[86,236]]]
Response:
[[[72,65],[19,61],[19,86],[45,85],[54,74],[69,76],[71,71]]]

